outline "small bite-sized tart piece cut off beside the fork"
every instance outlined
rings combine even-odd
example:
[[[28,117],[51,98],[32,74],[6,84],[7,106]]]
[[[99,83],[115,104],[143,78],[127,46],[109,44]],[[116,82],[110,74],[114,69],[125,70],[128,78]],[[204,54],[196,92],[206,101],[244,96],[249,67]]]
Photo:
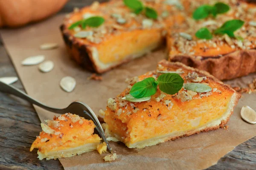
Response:
[[[95,125],[75,114],[66,113],[41,123],[42,132],[33,142],[30,151],[38,148],[38,158],[68,158],[97,149],[101,138],[93,134]]]

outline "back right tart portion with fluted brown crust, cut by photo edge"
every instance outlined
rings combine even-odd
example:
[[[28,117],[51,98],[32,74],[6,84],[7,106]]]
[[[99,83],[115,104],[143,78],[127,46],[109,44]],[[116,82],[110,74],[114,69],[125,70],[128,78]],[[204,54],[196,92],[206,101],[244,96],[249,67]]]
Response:
[[[218,79],[233,79],[256,71],[256,4],[241,0],[221,0],[229,6],[229,11],[217,14],[214,18],[195,20],[192,16],[197,8],[204,5],[214,6],[218,1],[184,1],[186,10],[175,14],[174,27],[168,29],[167,48],[169,60],[182,62],[188,66],[208,71]],[[239,23],[226,24],[223,33],[214,32],[227,21],[241,20]],[[229,25],[229,26],[228,26]],[[195,36],[200,29],[207,28],[212,38]],[[235,28],[238,28],[233,32]],[[235,37],[232,37],[234,34]],[[207,39],[207,40],[206,40]]]

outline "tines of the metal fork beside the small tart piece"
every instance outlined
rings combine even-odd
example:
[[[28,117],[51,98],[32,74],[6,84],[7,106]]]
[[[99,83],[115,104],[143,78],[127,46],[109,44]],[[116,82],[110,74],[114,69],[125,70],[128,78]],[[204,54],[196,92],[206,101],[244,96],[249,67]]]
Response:
[[[89,111],[91,109],[87,108]],[[102,137],[103,141],[107,144],[108,147],[108,151],[111,153],[112,148],[109,146],[108,141],[106,139],[105,133],[102,129],[102,126],[100,125],[99,119],[96,117],[95,113],[92,111],[90,113],[88,113],[87,111],[84,111],[85,114],[87,114],[87,116],[89,116],[91,118],[91,120],[94,122],[94,124],[96,125],[96,130],[99,132],[100,136]],[[94,114],[94,115],[93,115]]]

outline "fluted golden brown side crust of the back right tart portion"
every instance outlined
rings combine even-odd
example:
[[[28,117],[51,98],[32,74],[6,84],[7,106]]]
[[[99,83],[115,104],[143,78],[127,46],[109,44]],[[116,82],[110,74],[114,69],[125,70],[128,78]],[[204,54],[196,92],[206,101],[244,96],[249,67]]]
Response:
[[[204,57],[203,59],[189,55],[177,55],[169,60],[208,71],[221,80],[234,79],[256,71],[256,49],[235,51],[221,57]]]

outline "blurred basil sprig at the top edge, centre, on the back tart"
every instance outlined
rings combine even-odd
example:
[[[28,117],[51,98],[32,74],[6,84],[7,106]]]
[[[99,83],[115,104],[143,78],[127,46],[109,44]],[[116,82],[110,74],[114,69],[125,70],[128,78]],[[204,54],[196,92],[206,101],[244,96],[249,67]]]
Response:
[[[134,11],[135,14],[140,14],[145,11],[145,15],[148,18],[152,18],[154,20],[157,19],[157,11],[154,8],[143,6],[143,3],[140,0],[123,0],[125,6]]]

